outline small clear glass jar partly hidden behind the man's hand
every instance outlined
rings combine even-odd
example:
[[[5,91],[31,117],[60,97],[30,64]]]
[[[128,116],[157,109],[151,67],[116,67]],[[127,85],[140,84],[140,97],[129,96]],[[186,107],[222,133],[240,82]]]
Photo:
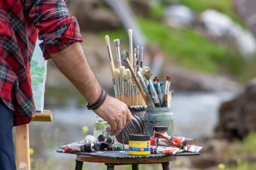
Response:
[[[109,127],[109,124],[103,120],[98,115],[96,116],[96,121],[93,126],[93,135],[98,140],[99,135],[105,135],[109,137],[109,132],[106,131],[106,128]]]

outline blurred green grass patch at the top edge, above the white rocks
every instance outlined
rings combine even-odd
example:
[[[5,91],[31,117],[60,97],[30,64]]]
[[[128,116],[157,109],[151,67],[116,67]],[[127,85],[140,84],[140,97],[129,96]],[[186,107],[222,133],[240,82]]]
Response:
[[[163,1],[177,1],[177,0],[163,0]],[[203,12],[206,9],[216,9],[228,15],[232,21],[238,22],[245,26],[244,23],[235,14],[235,9],[232,0],[178,0],[181,4],[190,7],[196,12]]]

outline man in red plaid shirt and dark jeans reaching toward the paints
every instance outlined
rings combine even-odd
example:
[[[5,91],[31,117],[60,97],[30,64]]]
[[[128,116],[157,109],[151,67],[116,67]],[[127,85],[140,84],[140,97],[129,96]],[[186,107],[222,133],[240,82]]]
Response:
[[[43,57],[51,58],[94,105],[93,111],[110,124],[110,135],[119,134],[132,119],[124,103],[102,95],[80,45],[77,20],[69,17],[65,1],[0,0],[0,170],[16,170],[12,127],[35,116],[30,60],[37,37],[43,40]]]

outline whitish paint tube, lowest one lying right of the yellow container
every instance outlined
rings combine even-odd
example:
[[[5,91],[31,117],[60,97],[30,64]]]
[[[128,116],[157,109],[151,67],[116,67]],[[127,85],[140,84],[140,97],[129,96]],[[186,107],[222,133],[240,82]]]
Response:
[[[180,148],[174,147],[167,147],[167,146],[157,146],[151,145],[150,146],[150,153],[151,154],[166,154],[166,155],[174,155],[178,152],[182,152],[183,150]]]

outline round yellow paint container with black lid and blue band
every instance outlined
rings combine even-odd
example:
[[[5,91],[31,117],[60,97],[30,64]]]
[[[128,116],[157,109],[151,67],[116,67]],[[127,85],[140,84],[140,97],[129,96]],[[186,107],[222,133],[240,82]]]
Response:
[[[130,155],[149,155],[150,154],[150,135],[130,134],[129,135],[129,154]]]

